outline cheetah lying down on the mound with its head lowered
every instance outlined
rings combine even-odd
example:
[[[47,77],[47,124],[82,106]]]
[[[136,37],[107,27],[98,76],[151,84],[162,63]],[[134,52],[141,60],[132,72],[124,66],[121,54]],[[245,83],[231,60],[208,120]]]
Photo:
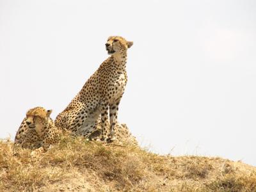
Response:
[[[36,148],[36,152],[43,152],[58,143],[59,130],[50,118],[51,113],[52,110],[41,107],[29,109],[16,133],[15,143],[24,148]]]

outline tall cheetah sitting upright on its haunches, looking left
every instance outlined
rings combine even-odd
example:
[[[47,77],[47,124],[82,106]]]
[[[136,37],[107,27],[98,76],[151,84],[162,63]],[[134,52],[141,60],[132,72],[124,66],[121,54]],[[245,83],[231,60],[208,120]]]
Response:
[[[118,105],[127,83],[127,49],[132,44],[121,36],[108,38],[105,45],[111,56],[100,65],[67,108],[56,117],[57,127],[88,137],[96,129],[97,119],[101,116],[101,140],[115,140]],[[108,110],[110,131],[107,136]]]

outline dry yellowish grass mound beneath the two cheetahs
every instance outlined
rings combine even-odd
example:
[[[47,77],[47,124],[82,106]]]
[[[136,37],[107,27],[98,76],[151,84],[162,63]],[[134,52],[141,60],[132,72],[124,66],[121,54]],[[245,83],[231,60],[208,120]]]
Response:
[[[256,168],[221,158],[159,156],[63,136],[39,157],[0,140],[0,191],[256,191]]]

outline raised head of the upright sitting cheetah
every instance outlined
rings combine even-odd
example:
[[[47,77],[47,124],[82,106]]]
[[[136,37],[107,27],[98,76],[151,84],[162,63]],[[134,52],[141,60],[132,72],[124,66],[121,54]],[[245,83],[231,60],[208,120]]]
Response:
[[[132,46],[133,42],[128,42],[122,36],[109,36],[106,45],[108,54],[115,54],[116,52],[125,52]]]

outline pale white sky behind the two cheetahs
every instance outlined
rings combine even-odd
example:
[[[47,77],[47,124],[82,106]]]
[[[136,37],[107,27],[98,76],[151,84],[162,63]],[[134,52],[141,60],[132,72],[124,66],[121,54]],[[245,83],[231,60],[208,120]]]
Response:
[[[119,122],[160,154],[256,165],[256,1],[1,1],[0,138],[55,118],[108,54],[134,41]]]

